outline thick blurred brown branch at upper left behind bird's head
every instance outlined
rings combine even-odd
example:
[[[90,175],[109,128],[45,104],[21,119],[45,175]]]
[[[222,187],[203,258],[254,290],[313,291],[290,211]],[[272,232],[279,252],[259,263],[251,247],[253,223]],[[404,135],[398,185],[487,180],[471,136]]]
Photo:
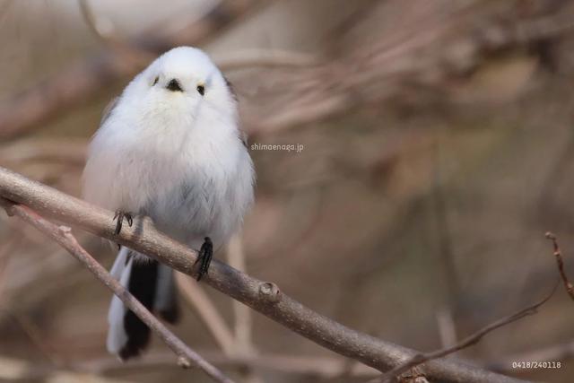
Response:
[[[213,39],[218,31],[228,27],[231,22],[236,22],[241,16],[252,11],[257,2],[223,1],[207,11],[201,20],[190,22],[175,33],[160,36],[157,30],[161,28],[156,27],[133,41],[121,42],[109,36],[102,37],[99,27],[93,24],[93,13],[87,8],[87,3],[83,1],[81,4],[91,30],[104,39],[107,45],[113,41],[112,47],[119,49],[105,49],[100,54],[65,67],[60,74],[2,103],[0,139],[23,135],[30,129],[38,128],[39,124],[60,116],[67,109],[91,100],[110,84],[142,70],[150,57],[157,56],[166,48],[202,45],[205,40]]]

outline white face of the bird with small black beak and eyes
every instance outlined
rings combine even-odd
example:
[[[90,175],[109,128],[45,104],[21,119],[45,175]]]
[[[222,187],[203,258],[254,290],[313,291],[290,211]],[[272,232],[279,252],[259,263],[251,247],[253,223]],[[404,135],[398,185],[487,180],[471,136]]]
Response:
[[[158,57],[126,89],[149,118],[191,118],[201,115],[235,118],[230,86],[204,52],[171,49]]]

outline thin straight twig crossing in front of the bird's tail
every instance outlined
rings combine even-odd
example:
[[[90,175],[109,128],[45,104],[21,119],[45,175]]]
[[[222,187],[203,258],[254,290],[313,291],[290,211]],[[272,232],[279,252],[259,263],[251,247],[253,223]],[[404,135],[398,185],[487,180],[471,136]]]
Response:
[[[178,356],[178,365],[183,368],[191,367],[193,362],[196,367],[203,370],[213,380],[221,383],[233,383],[233,381],[223,375],[222,371],[215,368],[204,358],[191,350],[187,344],[184,344],[176,335],[174,335],[161,321],[155,318],[152,313],[146,309],[139,300],[128,292],[124,286],[117,282],[106,269],[101,266],[75,239],[70,228],[57,226],[48,222],[39,214],[34,213],[30,208],[23,205],[15,205],[4,198],[0,199],[0,205],[4,207],[9,215],[17,215],[24,222],[30,223],[36,229],[45,234],[48,238],[56,241],[60,246],[65,248],[72,256],[80,261],[91,271],[98,280],[105,284],[109,290],[114,292],[117,297],[124,302],[126,307],[142,319],[143,323],[149,326],[152,331],[159,335],[161,340],[167,344],[170,349]]]

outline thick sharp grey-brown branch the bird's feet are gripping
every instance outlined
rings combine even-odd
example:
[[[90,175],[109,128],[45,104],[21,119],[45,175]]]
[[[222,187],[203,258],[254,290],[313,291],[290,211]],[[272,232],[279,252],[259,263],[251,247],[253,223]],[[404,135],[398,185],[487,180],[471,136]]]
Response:
[[[137,217],[132,227],[116,236],[114,213],[4,168],[0,168],[0,196],[125,245],[182,273],[195,274],[196,252],[157,231],[149,218]],[[203,281],[313,342],[378,370],[390,370],[417,354],[326,318],[281,292],[274,283],[259,281],[216,259]],[[443,382],[520,381],[456,361],[429,361],[423,371]]]

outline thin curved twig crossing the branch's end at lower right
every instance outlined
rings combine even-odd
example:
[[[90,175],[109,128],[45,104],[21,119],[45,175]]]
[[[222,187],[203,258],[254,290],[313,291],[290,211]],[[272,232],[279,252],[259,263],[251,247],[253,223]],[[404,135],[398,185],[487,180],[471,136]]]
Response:
[[[463,350],[467,347],[477,344],[478,342],[480,342],[480,340],[483,338],[484,335],[491,333],[497,328],[509,325],[512,322],[516,322],[518,319],[534,315],[536,312],[538,312],[538,309],[542,305],[544,305],[544,303],[550,300],[550,298],[556,291],[557,286],[558,284],[555,284],[554,287],[552,288],[552,291],[547,296],[545,296],[543,300],[540,300],[537,303],[528,306],[526,309],[520,309],[519,311],[515,312],[512,315],[509,315],[508,317],[500,318],[499,320],[492,322],[490,325],[484,326],[474,334],[466,336],[465,339],[463,339],[462,341],[451,347],[442,348],[437,351],[433,351],[431,353],[419,353],[417,355],[414,355],[413,358],[411,358],[409,361],[406,361],[403,364],[396,366],[396,368],[388,371],[382,377],[370,380],[370,383],[390,383],[392,381],[395,381],[395,379],[399,375],[421,365],[422,363],[442,358],[451,353],[457,353],[460,350]]]

